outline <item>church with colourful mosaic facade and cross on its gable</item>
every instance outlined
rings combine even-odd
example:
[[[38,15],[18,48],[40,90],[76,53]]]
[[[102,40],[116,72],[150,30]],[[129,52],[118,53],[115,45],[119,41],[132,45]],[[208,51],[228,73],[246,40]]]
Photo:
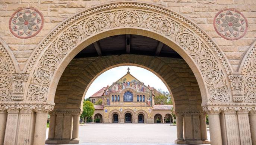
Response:
[[[156,89],[144,85],[129,72],[111,86],[89,97],[94,105],[93,122],[98,123],[172,123],[172,105],[155,105]]]

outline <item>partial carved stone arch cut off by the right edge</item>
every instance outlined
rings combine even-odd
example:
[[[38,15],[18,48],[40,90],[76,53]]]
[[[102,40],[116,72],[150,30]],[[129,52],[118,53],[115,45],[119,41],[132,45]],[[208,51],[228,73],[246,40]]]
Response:
[[[236,84],[240,84],[244,102],[256,103],[256,40],[252,43],[241,61],[237,77],[241,78]],[[236,85],[238,86],[238,85]]]

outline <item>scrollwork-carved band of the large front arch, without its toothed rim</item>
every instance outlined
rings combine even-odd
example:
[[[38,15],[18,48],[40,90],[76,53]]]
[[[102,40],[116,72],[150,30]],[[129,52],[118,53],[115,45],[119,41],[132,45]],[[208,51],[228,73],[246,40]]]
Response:
[[[154,31],[155,33],[169,37],[171,40],[180,45],[195,61],[200,68],[200,72],[204,77],[206,86],[209,92],[210,102],[229,102],[230,94],[227,88],[227,79],[224,73],[230,73],[225,60],[219,60],[218,56],[221,56],[219,50],[214,46],[212,42],[211,46],[203,40],[205,37],[203,33],[197,34],[194,32],[197,28],[189,28],[192,26],[190,22],[174,14],[163,16],[158,11],[152,11],[146,9],[146,7],[139,7],[138,10],[127,10],[123,6],[116,4],[119,9],[111,9],[109,11],[103,11],[101,13],[91,14],[91,16],[85,17],[85,15],[79,15],[78,23],[72,24],[69,22],[65,29],[60,34],[53,34],[51,38],[47,39],[47,42],[40,47],[44,49],[49,40],[50,45],[47,46],[47,50],[44,55],[39,59],[39,65],[35,66],[32,71],[32,78],[29,82],[29,91],[27,94],[27,101],[46,101],[47,92],[50,81],[53,79],[53,74],[60,62],[63,60],[69,52],[72,51],[81,41],[85,38],[95,35],[104,30],[115,29],[118,27],[133,27]],[[139,5],[138,5],[139,6]],[[149,6],[151,7],[151,6]],[[141,10],[145,9],[145,10]],[[167,11],[167,10],[166,10]],[[184,21],[181,21],[183,19]],[[72,19],[73,20],[73,19]],[[74,19],[75,21],[75,19]],[[183,22],[183,23],[181,23]],[[187,26],[184,26],[187,25]],[[62,25],[65,26],[65,25]],[[59,33],[62,28],[58,29],[54,33]],[[199,30],[199,29],[198,29]],[[200,31],[200,30],[199,30]],[[55,37],[56,36],[56,37]],[[210,48],[211,47],[211,50]],[[212,53],[218,53],[218,56]],[[221,56],[219,59],[223,59]],[[31,62],[35,64],[34,62]],[[223,69],[222,64],[226,70]],[[28,69],[28,72],[30,68]]]

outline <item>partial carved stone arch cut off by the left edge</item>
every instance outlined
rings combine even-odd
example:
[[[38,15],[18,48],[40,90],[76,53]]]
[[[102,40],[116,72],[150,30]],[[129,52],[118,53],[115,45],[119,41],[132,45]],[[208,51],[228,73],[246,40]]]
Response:
[[[0,101],[12,101],[13,74],[19,71],[17,60],[6,43],[0,39]]]

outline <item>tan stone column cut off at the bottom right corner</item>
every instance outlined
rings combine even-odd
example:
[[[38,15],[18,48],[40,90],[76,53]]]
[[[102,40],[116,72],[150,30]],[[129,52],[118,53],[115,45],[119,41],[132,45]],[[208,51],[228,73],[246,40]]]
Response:
[[[252,145],[256,145],[256,110],[255,108],[250,111],[249,122],[251,129]]]

